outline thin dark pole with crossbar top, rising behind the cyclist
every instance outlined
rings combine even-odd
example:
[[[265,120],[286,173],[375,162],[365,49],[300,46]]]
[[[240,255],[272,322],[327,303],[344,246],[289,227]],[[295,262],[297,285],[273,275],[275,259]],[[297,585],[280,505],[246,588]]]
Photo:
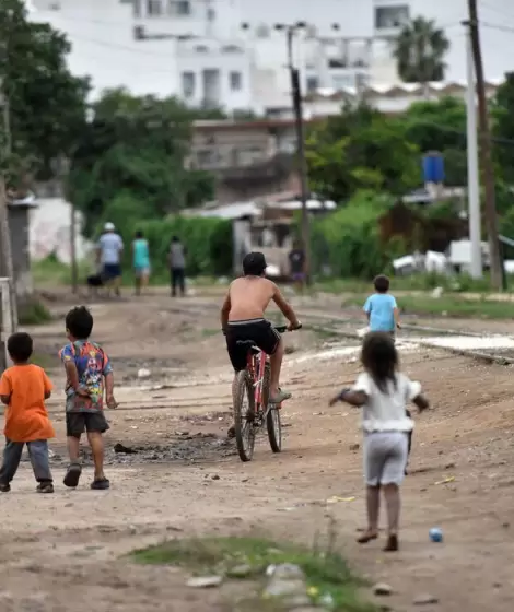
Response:
[[[288,43],[288,68],[291,75],[291,95],[293,101],[294,126],[296,131],[296,155],[299,162],[302,201],[302,246],[305,255],[305,281],[311,284],[311,223],[308,219],[308,170],[305,157],[305,137],[302,108],[302,87],[300,83],[300,70],[293,61],[293,36],[303,24],[287,26]],[[280,27],[279,27],[280,30]]]

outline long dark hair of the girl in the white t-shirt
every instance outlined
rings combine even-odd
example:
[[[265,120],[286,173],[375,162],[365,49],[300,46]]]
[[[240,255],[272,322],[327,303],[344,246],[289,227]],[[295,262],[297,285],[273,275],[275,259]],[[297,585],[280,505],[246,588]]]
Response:
[[[396,370],[399,360],[395,341],[388,333],[383,331],[367,333],[362,344],[361,361],[364,369],[382,392],[387,392],[389,380],[396,388]]]

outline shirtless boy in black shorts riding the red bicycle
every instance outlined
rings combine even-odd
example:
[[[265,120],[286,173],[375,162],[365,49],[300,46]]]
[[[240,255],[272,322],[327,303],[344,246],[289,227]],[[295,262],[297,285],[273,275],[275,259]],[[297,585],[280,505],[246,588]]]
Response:
[[[226,334],[226,349],[236,373],[246,367],[247,349],[237,344],[240,340],[252,340],[270,356],[269,401],[277,405],[291,398],[291,393],[279,388],[284,350],[280,333],[265,319],[265,310],[271,299],[289,320],[290,331],[302,326],[278,286],[264,278],[266,268],[261,252],[249,252],[243,259],[244,276],[233,281],[229,287],[221,307],[221,327]]]

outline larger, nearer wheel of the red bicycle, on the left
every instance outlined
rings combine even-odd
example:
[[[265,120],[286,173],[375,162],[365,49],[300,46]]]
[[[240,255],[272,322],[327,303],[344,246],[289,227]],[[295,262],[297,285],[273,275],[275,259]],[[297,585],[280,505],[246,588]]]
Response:
[[[252,377],[246,369],[237,373],[233,400],[237,452],[242,461],[252,461],[255,446],[255,398]]]

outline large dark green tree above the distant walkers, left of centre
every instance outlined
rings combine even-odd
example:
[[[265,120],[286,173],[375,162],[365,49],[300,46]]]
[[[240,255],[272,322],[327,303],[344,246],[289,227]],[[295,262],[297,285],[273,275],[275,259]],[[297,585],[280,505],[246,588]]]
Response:
[[[194,114],[173,97],[132,96],[113,90],[92,107],[93,119],[77,146],[69,195],[92,234],[98,222],[163,217],[213,197],[213,178],[185,168]],[[136,203],[135,203],[136,202]]]

